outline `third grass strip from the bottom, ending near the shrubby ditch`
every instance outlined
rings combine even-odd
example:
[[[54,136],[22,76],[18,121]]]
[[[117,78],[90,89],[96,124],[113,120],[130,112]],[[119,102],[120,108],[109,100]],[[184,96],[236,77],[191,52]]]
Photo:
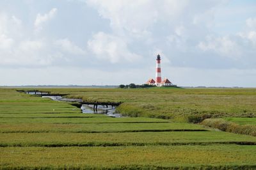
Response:
[[[202,131],[207,128],[189,123],[3,123],[1,133],[40,133],[40,132],[161,132],[161,131]]]

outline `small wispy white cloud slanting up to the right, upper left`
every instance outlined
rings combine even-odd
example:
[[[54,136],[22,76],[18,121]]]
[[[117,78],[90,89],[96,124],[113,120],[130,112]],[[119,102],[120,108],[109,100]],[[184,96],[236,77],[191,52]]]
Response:
[[[42,30],[42,25],[47,22],[48,20],[51,20],[57,13],[57,8],[52,8],[51,11],[48,13],[45,13],[42,15],[41,13],[38,13],[34,22],[35,30],[40,31]]]

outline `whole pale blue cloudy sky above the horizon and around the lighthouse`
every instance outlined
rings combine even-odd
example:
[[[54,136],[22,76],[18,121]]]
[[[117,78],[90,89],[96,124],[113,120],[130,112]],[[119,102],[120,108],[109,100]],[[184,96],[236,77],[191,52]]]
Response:
[[[0,86],[256,87],[254,0],[1,0]]]

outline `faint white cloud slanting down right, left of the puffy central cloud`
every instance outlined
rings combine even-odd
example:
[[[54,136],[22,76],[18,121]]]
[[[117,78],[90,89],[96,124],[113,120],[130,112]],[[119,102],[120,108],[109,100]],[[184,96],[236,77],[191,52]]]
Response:
[[[56,40],[54,42],[55,45],[61,48],[61,50],[66,51],[70,54],[77,54],[77,55],[84,55],[86,54],[85,50],[81,49],[80,47],[77,47],[74,42],[70,42],[67,38]]]

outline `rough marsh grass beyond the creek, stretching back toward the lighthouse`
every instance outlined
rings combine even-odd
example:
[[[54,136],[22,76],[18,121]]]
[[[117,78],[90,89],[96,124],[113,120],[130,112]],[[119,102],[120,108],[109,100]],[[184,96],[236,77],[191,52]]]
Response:
[[[176,119],[197,123],[205,118],[256,117],[256,90],[244,89],[47,89],[88,102],[124,102],[127,116]],[[181,119],[183,117],[183,120]]]

